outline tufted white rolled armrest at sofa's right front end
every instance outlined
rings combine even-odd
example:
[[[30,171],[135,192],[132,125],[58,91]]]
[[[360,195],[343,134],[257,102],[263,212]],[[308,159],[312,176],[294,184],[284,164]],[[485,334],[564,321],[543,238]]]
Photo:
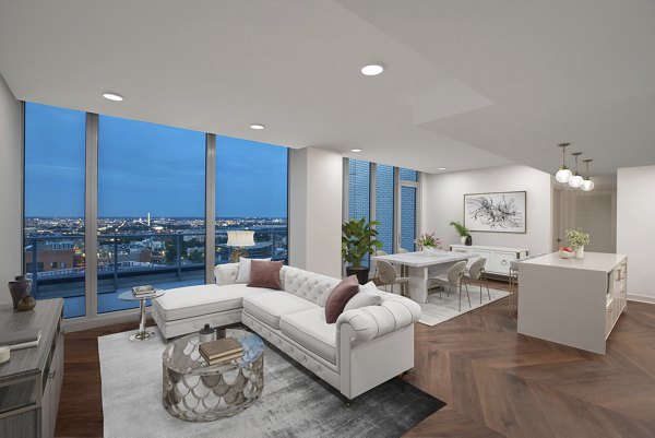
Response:
[[[380,306],[367,306],[340,315],[336,320],[336,339],[341,341],[344,324],[352,330],[350,344],[356,345],[381,338],[420,319],[420,306],[412,299],[391,295]]]

